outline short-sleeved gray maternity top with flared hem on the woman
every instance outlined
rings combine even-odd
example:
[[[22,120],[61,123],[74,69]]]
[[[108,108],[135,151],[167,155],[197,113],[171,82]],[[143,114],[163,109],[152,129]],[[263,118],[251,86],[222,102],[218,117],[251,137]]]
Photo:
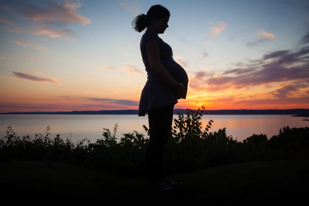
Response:
[[[146,44],[149,40],[155,39],[159,42],[160,62],[167,69],[168,73],[179,83],[185,86],[185,93],[181,97],[176,96],[174,89],[164,82],[151,69]],[[141,53],[147,71],[147,82],[142,90],[139,102],[138,116],[145,114],[154,108],[164,107],[169,104],[176,104],[177,99],[186,99],[188,90],[188,75],[186,71],[173,59],[172,48],[154,32],[146,32],[141,40]]]

